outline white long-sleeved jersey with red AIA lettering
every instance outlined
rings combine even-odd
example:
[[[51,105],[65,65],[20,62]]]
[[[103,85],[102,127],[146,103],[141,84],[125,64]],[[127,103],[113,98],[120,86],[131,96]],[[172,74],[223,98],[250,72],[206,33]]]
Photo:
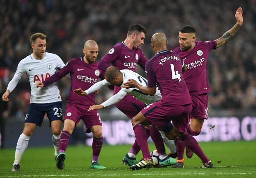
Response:
[[[22,59],[17,67],[15,75],[9,82],[7,89],[13,91],[24,72],[28,75],[31,87],[30,103],[53,103],[61,101],[57,84],[49,84],[46,87],[36,87],[37,81],[44,81],[55,74],[56,68],[62,69],[65,66],[61,58],[52,53],[46,52],[44,58],[36,60],[33,54]]]

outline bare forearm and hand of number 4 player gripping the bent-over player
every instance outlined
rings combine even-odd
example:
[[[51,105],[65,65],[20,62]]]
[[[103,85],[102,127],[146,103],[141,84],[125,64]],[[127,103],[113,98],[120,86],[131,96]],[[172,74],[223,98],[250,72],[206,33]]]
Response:
[[[156,94],[156,87],[148,87],[148,86],[143,86],[139,84],[136,80],[134,79],[129,79],[127,82],[122,84],[122,87],[124,88],[137,88],[142,93],[154,96]]]

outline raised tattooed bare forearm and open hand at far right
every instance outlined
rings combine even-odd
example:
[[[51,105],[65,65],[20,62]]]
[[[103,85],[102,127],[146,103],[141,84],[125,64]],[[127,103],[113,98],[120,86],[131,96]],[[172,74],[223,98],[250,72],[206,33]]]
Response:
[[[217,42],[216,48],[219,48],[223,45],[225,45],[229,40],[231,40],[237,31],[240,29],[241,25],[243,24],[243,9],[239,7],[235,13],[235,18],[237,20],[237,23],[234,24],[234,26],[228,30],[226,33],[222,35],[219,39],[216,39],[215,41]]]

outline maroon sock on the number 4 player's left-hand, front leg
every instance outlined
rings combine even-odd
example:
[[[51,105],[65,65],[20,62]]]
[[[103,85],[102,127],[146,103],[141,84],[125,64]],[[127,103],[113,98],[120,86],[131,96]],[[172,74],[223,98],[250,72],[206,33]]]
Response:
[[[147,145],[148,134],[143,125],[137,124],[133,127],[135,138],[140,146],[144,159],[151,159],[150,151]]]

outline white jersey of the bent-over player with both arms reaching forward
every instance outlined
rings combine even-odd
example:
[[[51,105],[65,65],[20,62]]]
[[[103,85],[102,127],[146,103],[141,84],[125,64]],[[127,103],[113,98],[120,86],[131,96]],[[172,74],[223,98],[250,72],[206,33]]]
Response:
[[[147,80],[144,77],[137,74],[136,72],[133,72],[129,69],[123,69],[123,70],[120,70],[120,71],[123,73],[123,83],[128,81],[129,79],[134,79],[139,84],[147,86]],[[106,79],[104,79],[104,80],[99,81],[96,84],[92,85],[85,92],[87,94],[91,94],[94,91],[99,90],[101,87],[109,85],[109,84],[110,83],[108,81],[106,81]],[[154,96],[143,94],[137,88],[129,88],[129,89],[122,88],[117,94],[113,95],[108,100],[106,100],[104,103],[102,103],[102,105],[104,107],[106,107],[106,106],[110,106],[112,104],[115,104],[115,103],[119,102],[120,100],[122,100],[125,97],[125,95],[127,95],[127,94],[131,94],[132,96],[134,96],[138,100],[146,103],[147,105],[151,104],[153,102],[159,101],[162,98],[161,93],[160,93],[158,88],[156,88],[156,94]]]

